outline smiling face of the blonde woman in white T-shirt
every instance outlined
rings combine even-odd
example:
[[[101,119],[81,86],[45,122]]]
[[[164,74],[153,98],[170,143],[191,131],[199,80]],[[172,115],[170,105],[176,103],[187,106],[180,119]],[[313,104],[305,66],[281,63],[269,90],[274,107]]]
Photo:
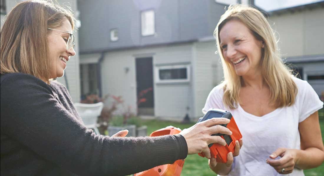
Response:
[[[226,62],[238,76],[256,75],[261,72],[262,41],[239,20],[228,21],[219,32],[220,47]]]

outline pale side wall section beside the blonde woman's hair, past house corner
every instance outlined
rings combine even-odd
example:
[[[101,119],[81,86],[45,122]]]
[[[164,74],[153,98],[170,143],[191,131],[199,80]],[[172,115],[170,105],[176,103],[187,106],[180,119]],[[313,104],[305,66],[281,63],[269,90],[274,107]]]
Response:
[[[194,43],[194,118],[202,117],[209,92],[223,80],[223,70],[215,41]]]

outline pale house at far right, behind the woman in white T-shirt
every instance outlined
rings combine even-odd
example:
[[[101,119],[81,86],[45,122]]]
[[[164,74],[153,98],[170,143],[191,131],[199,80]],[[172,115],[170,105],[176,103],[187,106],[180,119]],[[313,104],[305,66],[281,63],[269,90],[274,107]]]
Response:
[[[324,2],[268,12],[283,58],[324,95]]]

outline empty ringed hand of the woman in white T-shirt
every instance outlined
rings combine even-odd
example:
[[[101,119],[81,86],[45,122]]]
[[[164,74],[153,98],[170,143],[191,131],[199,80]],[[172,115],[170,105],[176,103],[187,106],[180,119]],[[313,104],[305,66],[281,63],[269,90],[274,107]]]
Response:
[[[279,148],[270,155],[271,159],[280,156],[280,159],[269,160],[267,163],[272,166],[280,174],[292,173],[297,161],[296,149]]]

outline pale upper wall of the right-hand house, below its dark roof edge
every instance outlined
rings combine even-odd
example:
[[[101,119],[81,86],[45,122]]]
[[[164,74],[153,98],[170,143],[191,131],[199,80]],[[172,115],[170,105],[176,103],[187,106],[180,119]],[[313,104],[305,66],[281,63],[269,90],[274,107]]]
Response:
[[[283,57],[324,53],[323,16],[323,8],[270,16]]]

